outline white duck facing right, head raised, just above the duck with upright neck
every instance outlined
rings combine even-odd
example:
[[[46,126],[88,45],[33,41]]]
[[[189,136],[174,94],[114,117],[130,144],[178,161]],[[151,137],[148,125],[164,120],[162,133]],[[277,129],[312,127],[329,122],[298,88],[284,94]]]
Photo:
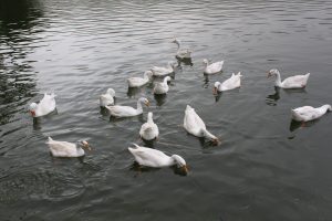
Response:
[[[143,113],[143,107],[142,103],[144,103],[146,106],[149,106],[149,102],[145,97],[141,97],[137,101],[137,109],[129,107],[129,106],[120,106],[120,105],[114,105],[114,106],[105,106],[110,113],[111,116],[114,117],[133,117],[137,116]]]

